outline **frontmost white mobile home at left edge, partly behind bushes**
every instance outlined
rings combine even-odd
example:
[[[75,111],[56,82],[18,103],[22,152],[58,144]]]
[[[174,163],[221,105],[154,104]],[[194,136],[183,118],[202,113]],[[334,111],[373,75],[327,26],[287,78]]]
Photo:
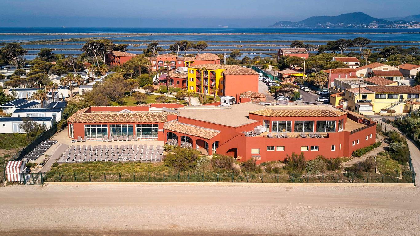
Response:
[[[24,117],[0,117],[0,133],[25,133],[21,129],[21,123],[23,123]],[[39,124],[45,124],[47,128],[51,128],[55,124],[54,117],[30,117],[31,121],[35,121]]]

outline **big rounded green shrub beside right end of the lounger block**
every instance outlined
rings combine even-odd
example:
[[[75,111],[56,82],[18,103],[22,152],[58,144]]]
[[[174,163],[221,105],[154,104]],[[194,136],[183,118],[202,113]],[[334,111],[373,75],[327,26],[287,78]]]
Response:
[[[168,167],[172,167],[177,171],[191,170],[197,164],[201,152],[195,149],[186,149],[182,147],[174,147],[166,155],[164,163]]]

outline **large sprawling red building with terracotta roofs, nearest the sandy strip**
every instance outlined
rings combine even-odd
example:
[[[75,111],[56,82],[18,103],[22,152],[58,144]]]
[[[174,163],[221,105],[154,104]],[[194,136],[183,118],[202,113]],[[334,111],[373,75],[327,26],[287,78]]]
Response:
[[[166,108],[163,108],[166,107]],[[357,113],[332,106],[263,105],[245,102],[231,107],[152,104],[144,107],[90,107],[68,118],[70,138],[134,135],[142,140],[176,139],[205,154],[215,152],[257,163],[284,160],[303,152],[349,157],[375,142],[376,124]],[[255,134],[255,127],[267,131]],[[316,132],[316,133],[315,133]]]

